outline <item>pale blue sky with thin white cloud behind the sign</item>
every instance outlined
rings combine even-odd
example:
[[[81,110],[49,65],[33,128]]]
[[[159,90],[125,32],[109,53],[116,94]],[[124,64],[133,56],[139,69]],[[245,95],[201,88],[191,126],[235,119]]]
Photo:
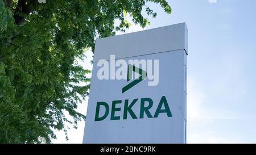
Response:
[[[188,143],[256,143],[256,1],[170,0],[144,30],[186,22],[188,27]],[[210,3],[213,2],[213,3]],[[216,2],[216,3],[214,3]],[[127,32],[143,30],[133,26]],[[88,60],[86,68],[92,68]],[[86,114],[87,100],[79,107]],[[53,143],[82,143],[77,130]]]

